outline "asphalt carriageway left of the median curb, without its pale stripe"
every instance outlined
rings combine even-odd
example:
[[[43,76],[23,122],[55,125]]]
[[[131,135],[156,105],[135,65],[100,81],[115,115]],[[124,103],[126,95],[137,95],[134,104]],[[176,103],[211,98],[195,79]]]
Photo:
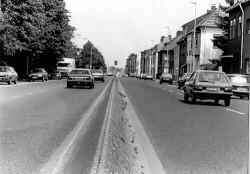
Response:
[[[65,80],[1,84],[0,173],[39,173],[110,80],[96,82],[94,89],[67,89]],[[89,173],[109,92],[110,87],[78,140],[66,173]]]

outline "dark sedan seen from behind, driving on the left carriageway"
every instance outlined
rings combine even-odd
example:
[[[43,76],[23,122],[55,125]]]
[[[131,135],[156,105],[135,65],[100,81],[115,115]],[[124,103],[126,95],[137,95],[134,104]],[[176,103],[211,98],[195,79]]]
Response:
[[[73,86],[89,86],[94,88],[94,76],[90,69],[75,68],[73,69],[67,78],[67,88]]]

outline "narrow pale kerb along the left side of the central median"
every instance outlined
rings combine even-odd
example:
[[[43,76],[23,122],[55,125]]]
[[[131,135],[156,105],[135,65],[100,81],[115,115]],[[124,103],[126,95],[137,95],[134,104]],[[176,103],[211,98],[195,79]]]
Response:
[[[116,79],[115,79],[116,80]],[[108,133],[110,127],[111,110],[112,110],[112,100],[115,89],[115,80],[111,88],[108,106],[105,112],[104,122],[101,129],[101,134],[98,140],[97,150],[94,157],[93,165],[91,167],[90,174],[102,174],[104,171],[105,157],[107,155],[107,145],[108,145]]]

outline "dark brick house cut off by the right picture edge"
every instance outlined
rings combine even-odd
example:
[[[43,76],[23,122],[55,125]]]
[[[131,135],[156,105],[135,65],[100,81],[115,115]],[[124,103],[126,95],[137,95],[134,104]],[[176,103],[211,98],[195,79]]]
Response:
[[[228,55],[221,63],[226,73],[249,74],[250,63],[250,0],[239,1],[230,6]]]

